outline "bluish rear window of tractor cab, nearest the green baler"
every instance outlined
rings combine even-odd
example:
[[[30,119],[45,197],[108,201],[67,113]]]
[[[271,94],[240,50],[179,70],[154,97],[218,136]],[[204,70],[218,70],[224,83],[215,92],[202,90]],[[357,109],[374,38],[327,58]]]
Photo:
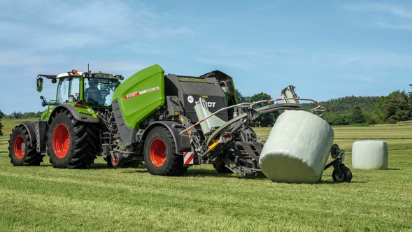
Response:
[[[118,80],[105,78],[85,78],[83,100],[90,106],[111,106]]]

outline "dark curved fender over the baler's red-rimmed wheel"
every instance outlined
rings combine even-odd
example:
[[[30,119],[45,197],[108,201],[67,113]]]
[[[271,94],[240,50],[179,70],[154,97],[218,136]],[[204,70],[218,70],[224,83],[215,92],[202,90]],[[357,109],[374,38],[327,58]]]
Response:
[[[156,126],[164,126],[166,127],[170,132],[171,135],[173,136],[173,140],[176,144],[176,154],[182,154],[183,152],[190,152],[191,147],[190,147],[190,138],[187,136],[180,136],[179,133],[184,130],[182,127],[174,127],[173,125],[179,125],[180,123],[178,122],[173,122],[173,121],[157,121],[153,122],[150,124],[145,131],[143,132],[143,136],[141,137],[141,140],[145,140],[145,138],[148,136],[148,133],[155,128]]]

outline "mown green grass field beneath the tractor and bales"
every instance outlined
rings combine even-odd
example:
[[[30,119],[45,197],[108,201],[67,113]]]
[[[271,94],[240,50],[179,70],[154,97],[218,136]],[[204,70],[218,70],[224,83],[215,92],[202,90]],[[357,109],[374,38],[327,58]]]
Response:
[[[17,121],[17,120],[16,120]],[[388,142],[388,170],[352,170],[335,184],[274,183],[218,174],[210,165],[181,177],[145,168],[85,170],[13,167],[3,120],[0,137],[0,231],[412,231],[412,124],[337,127],[335,143],[351,166],[355,140]],[[267,136],[270,129],[256,129]]]

